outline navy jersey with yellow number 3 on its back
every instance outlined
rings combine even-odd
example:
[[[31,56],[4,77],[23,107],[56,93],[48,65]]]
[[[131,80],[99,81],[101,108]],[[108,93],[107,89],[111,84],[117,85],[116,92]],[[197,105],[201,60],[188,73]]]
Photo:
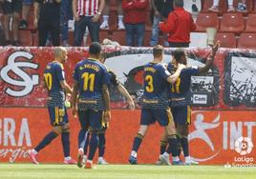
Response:
[[[144,66],[143,108],[165,108],[167,101],[167,77],[170,73],[162,64],[148,63]]]

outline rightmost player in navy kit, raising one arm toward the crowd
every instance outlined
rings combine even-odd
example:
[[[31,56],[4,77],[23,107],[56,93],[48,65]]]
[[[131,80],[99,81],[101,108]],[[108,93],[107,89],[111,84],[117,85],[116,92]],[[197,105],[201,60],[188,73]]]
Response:
[[[173,61],[168,64],[167,69],[174,73],[179,64],[186,66],[185,69],[181,70],[180,77],[174,84],[171,84],[169,97],[170,105],[173,118],[177,130],[177,138],[181,143],[181,149],[183,150],[183,155],[185,158],[185,165],[198,164],[198,162],[192,160],[189,155],[188,148],[188,127],[191,124],[191,109],[190,109],[190,84],[191,76],[198,75],[207,72],[213,65],[213,60],[220,44],[217,43],[212,47],[211,54],[206,60],[204,67],[187,67],[187,55],[185,50],[178,49],[172,53]],[[166,134],[160,140],[160,163],[159,164],[169,164],[169,153],[171,149],[166,149],[167,140]]]

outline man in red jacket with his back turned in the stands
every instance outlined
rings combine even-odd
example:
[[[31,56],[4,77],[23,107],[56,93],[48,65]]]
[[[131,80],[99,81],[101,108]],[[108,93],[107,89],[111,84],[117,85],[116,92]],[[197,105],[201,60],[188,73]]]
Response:
[[[183,0],[174,0],[174,11],[169,13],[168,20],[160,23],[160,30],[168,32],[169,46],[187,48],[190,43],[190,32],[196,30],[191,14],[183,9]]]

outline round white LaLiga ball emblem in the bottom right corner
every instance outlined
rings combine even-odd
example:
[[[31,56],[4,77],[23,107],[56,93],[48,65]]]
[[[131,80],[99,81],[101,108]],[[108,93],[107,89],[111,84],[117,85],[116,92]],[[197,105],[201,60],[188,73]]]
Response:
[[[241,155],[249,154],[252,148],[252,141],[248,137],[239,137],[235,142],[235,150]]]

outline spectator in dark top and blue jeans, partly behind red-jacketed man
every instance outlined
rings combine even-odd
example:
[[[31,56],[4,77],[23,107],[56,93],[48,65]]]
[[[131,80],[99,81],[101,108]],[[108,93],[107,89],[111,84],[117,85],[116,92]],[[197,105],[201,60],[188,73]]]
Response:
[[[156,46],[159,43],[160,20],[166,19],[168,17],[169,12],[173,10],[173,0],[151,0],[151,5],[152,5],[151,14],[153,16],[153,26],[152,26],[152,36],[151,36],[150,46]]]

